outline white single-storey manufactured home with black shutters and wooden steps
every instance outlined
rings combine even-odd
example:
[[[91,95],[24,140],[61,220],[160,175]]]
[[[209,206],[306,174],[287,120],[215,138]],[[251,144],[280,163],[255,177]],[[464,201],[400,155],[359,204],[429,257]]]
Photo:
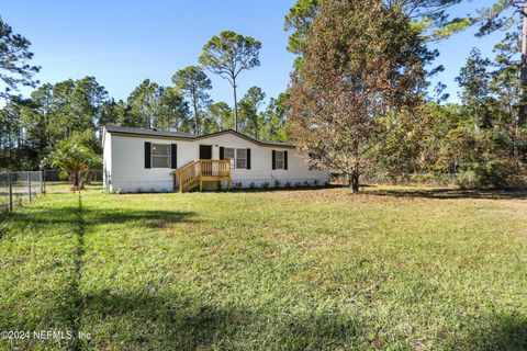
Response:
[[[311,169],[294,145],[234,131],[194,136],[106,126],[102,146],[104,189],[112,192],[313,186],[329,180],[329,171]]]

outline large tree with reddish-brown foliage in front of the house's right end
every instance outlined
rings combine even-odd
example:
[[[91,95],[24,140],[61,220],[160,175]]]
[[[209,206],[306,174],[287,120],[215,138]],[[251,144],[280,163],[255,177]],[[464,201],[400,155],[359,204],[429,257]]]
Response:
[[[360,30],[357,30],[360,29]],[[359,177],[392,126],[421,103],[430,59],[401,7],[381,0],[325,0],[289,90],[293,139],[313,166]]]

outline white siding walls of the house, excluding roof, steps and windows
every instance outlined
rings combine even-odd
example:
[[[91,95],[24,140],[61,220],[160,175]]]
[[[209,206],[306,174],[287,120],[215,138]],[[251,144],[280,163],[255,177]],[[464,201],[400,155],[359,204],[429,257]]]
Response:
[[[111,170],[110,191],[119,192],[167,192],[173,191],[173,176],[170,168],[152,168],[145,169],[145,143],[152,144],[178,144],[178,166],[184,166],[200,158],[200,144],[203,140],[186,140],[170,138],[153,137],[153,136],[135,136],[135,135],[106,135],[108,139],[104,144],[104,157],[106,158],[106,168]],[[250,170],[232,168],[233,184],[242,183],[244,188],[248,188],[254,183],[260,186],[268,183],[270,186],[276,184],[278,180],[280,186],[284,186],[288,182],[294,185],[296,182],[304,183],[309,181],[313,183],[316,179],[319,185],[324,184],[329,178],[329,171],[309,170],[304,163],[306,155],[296,151],[293,148],[280,148],[277,146],[259,146],[249,140],[240,138],[234,133],[206,138],[206,143],[213,145],[212,158],[220,159],[221,146],[228,146],[234,149],[234,158],[236,158],[236,149],[250,148]],[[217,146],[216,146],[217,145]],[[225,148],[226,150],[227,148]],[[152,145],[150,145],[152,150]],[[288,170],[272,170],[271,150],[288,150]],[[229,151],[226,151],[229,152]],[[225,157],[226,155],[224,155]],[[150,155],[152,160],[152,155]],[[233,161],[236,163],[236,161]],[[168,163],[168,161],[167,161]],[[152,163],[154,165],[154,163]],[[226,184],[223,184],[226,186]]]

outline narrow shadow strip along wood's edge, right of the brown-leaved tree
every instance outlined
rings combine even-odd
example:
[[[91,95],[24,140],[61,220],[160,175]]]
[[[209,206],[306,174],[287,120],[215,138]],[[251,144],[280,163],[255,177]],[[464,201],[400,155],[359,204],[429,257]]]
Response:
[[[486,200],[527,200],[527,193],[503,190],[459,190],[459,189],[408,189],[408,190],[368,190],[366,195],[381,197],[422,197],[422,199],[486,199]]]

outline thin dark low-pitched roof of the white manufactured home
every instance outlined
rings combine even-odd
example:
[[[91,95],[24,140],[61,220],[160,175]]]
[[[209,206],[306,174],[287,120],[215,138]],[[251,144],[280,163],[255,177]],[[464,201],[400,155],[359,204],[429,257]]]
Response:
[[[134,127],[122,127],[116,125],[104,126],[104,129],[108,133],[114,133],[114,134],[121,134],[121,135],[155,136],[155,137],[166,137],[166,138],[172,138],[172,139],[189,139],[189,140],[201,140],[201,139],[206,139],[206,138],[222,135],[222,134],[233,134],[243,139],[246,139],[248,141],[255,143],[260,146],[279,146],[279,147],[291,147],[291,148],[295,147],[294,144],[290,144],[290,143],[256,139],[250,136],[244,135],[242,133],[235,132],[233,129],[226,129],[226,131],[221,131],[221,132],[211,133],[211,134],[203,134],[203,135],[193,135],[190,133],[182,133],[182,132],[167,132],[167,131],[144,129],[144,128],[134,128]]]

